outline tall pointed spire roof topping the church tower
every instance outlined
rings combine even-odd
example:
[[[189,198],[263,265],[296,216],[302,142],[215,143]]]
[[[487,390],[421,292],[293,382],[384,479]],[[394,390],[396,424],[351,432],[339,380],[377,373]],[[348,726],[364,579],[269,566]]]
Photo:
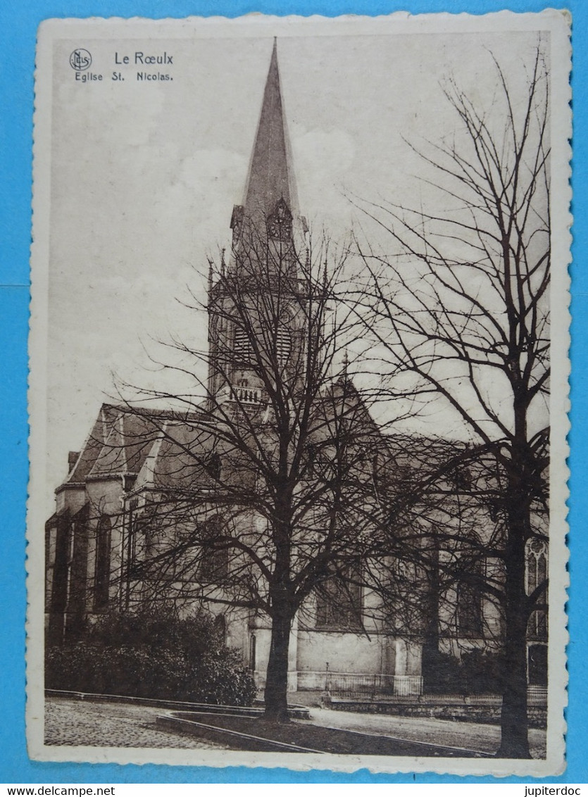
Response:
[[[298,199],[290,161],[290,145],[280,90],[277,42],[274,39],[257,135],[249,163],[249,176],[245,186],[243,204],[246,217],[255,218],[261,214],[267,218],[268,214],[276,209],[280,199],[284,199],[292,216],[296,217]]]

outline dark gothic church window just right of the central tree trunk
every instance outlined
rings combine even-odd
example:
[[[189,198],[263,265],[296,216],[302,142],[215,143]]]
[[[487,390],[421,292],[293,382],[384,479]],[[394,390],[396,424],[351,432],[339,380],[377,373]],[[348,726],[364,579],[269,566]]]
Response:
[[[359,567],[332,575],[316,591],[316,626],[333,630],[358,630],[362,624],[362,589]]]

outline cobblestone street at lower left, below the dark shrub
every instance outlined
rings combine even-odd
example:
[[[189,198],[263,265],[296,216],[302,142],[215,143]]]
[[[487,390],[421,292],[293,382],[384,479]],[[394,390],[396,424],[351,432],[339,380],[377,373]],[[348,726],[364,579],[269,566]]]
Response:
[[[157,728],[155,717],[162,713],[162,709],[154,709],[151,706],[92,703],[49,697],[45,701],[45,744],[189,750],[225,749],[221,744]]]

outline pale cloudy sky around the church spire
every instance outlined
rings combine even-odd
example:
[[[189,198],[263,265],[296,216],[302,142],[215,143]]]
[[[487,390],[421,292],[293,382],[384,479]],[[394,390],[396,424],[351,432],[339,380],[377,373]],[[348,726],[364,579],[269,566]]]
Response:
[[[179,26],[180,23],[178,23]],[[206,316],[182,307],[186,286],[202,300],[209,255],[229,246],[242,201],[261,98],[278,36],[280,78],[300,212],[335,240],[366,220],[354,198],[417,205],[427,188],[407,141],[455,128],[442,86],[453,76],[474,102],[496,88],[492,55],[513,84],[525,80],[535,32],[310,35],[277,23],[214,36],[156,40],[57,39],[51,75],[46,330],[48,511],[117,379],[159,386],[157,341],[206,340]],[[82,83],[73,49],[92,53]],[[135,53],[173,64],[136,67]],[[122,67],[127,55],[129,65]],[[173,80],[140,82],[139,69]],[[125,80],[112,80],[120,72]],[[521,82],[522,81],[522,82]],[[491,101],[490,101],[490,104]],[[382,245],[388,245],[382,239]],[[33,272],[33,292],[35,275]],[[182,386],[185,387],[185,386]]]

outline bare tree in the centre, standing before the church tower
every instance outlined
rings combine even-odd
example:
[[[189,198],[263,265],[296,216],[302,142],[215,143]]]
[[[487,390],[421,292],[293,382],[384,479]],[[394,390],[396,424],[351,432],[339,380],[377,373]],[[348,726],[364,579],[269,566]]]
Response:
[[[148,411],[159,477],[127,516],[121,578],[129,605],[197,600],[269,618],[265,712],[287,720],[292,621],[333,583],[351,599],[380,434],[341,364],[355,323],[333,301],[345,257],[327,238],[298,257],[281,211],[240,220],[229,263],[210,265],[209,346],[175,341],[182,364],[167,366],[194,393],[141,396],[184,409]]]

